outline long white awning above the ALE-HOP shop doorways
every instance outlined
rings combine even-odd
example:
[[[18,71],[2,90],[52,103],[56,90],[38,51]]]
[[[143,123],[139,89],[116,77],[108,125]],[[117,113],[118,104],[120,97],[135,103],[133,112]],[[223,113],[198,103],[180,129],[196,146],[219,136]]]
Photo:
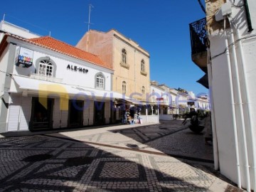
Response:
[[[10,92],[26,92],[38,93],[38,95],[60,95],[69,96],[75,95],[76,97],[101,97],[108,99],[126,99],[119,92],[112,92],[107,90],[97,90],[88,87],[81,87],[78,85],[67,85],[63,83],[50,82],[46,80],[37,80],[29,77],[23,76],[13,76],[14,82],[18,85],[17,87],[12,87]]]

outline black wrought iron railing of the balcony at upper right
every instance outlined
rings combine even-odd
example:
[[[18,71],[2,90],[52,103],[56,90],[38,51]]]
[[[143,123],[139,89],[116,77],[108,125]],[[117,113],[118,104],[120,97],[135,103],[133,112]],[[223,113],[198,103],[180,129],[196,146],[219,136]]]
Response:
[[[189,24],[192,54],[206,51],[206,18]]]

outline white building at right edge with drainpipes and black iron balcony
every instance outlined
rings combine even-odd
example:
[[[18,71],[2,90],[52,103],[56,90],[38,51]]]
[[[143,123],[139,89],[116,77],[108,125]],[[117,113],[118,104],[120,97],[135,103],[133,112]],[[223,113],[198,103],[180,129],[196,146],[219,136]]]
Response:
[[[191,23],[192,59],[208,73],[215,169],[247,191],[256,190],[255,10],[255,0],[206,1],[206,19]]]

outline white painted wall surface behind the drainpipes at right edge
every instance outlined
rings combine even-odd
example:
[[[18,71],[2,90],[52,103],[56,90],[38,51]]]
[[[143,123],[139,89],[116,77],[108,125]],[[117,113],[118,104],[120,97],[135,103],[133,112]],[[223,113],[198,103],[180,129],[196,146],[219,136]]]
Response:
[[[230,1],[233,3],[233,1]],[[243,4],[243,1],[235,1],[235,4]],[[250,8],[250,16],[252,21],[252,27],[256,28],[256,1],[248,0],[248,6]],[[246,144],[248,146],[248,157],[249,157],[249,166],[250,166],[250,183],[251,188],[253,186],[253,176],[252,174],[252,142],[250,140],[250,128],[253,130],[252,137],[256,137],[256,127],[255,124],[252,124],[250,127],[249,124],[249,114],[253,117],[253,122],[255,121],[256,115],[256,90],[255,90],[255,80],[256,80],[256,41],[255,37],[250,38],[250,36],[256,35],[256,30],[251,33],[247,33],[247,21],[243,8],[238,8],[232,6],[232,15],[233,21],[238,25],[241,37],[244,38],[241,40],[243,45],[243,52],[245,53],[245,80],[247,83],[247,94],[250,98],[250,111],[247,112],[247,100],[245,97],[245,81],[242,78],[242,68],[240,62],[240,56],[238,55],[238,70],[240,75],[241,83],[241,92],[242,92],[242,109],[244,111],[245,117],[245,131],[246,131]],[[228,30],[228,36],[230,36],[230,31]],[[246,37],[246,38],[245,38]],[[237,38],[237,36],[235,36]],[[210,33],[210,54],[213,57],[222,53],[225,46],[225,37],[223,31],[215,31]],[[228,39],[228,44],[233,42]],[[236,51],[238,53],[238,43],[236,43]],[[230,49],[230,58],[231,64],[233,65],[234,60],[232,58],[232,50]],[[240,119],[240,111],[238,107],[238,95],[234,95],[235,103],[231,102],[232,92],[230,92],[230,82],[228,75],[228,59],[227,55],[223,54],[212,60],[211,63],[213,78],[209,79],[212,81],[212,94],[213,94],[213,107],[215,111],[215,127],[217,131],[218,139],[218,151],[219,151],[219,164],[220,172],[224,176],[230,178],[232,181],[238,181],[236,158],[235,158],[235,136],[234,136],[234,124],[233,119],[235,120],[235,126],[238,131],[238,149],[239,149],[239,160],[240,160],[240,170],[241,170],[241,181],[242,186],[246,188],[246,176],[245,176],[245,150],[243,148],[243,139],[242,139],[242,121]],[[232,80],[233,80],[233,90],[236,94],[238,91],[235,86],[235,73],[232,70]],[[232,115],[232,105],[235,106],[235,116]]]

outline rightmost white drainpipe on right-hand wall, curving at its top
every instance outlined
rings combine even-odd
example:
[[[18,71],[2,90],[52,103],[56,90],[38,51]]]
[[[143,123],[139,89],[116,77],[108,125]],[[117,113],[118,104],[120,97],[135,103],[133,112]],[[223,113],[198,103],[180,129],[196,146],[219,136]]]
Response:
[[[235,28],[235,33],[237,34],[237,38],[238,38],[238,52],[240,54],[240,61],[241,61],[241,68],[242,68],[242,81],[244,82],[244,89],[245,89],[245,99],[247,102],[244,103],[244,105],[247,108],[247,114],[248,114],[248,119],[249,119],[249,129],[250,129],[250,140],[252,142],[251,146],[252,146],[252,168],[253,168],[253,180],[252,180],[252,186],[254,191],[256,191],[256,147],[255,147],[255,137],[254,137],[254,131],[253,131],[253,127],[255,127],[254,122],[252,121],[253,117],[252,117],[252,107],[251,107],[251,100],[250,100],[250,96],[249,96],[249,92],[248,92],[248,82],[247,82],[247,74],[245,73],[246,71],[246,66],[245,66],[245,55],[243,53],[243,47],[242,47],[242,42],[241,42],[241,36],[240,36],[240,31],[238,30],[238,26],[235,25],[235,23],[233,23],[231,21],[231,23],[233,24],[234,28]]]

